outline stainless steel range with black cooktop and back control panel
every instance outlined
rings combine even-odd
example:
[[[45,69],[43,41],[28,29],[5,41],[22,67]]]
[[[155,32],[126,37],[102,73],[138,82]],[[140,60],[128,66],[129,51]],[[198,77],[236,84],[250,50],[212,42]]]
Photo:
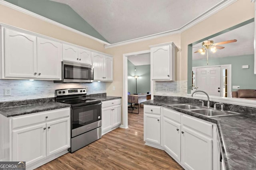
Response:
[[[55,90],[56,102],[71,105],[71,148],[74,152],[101,138],[101,101],[86,98],[86,89]]]

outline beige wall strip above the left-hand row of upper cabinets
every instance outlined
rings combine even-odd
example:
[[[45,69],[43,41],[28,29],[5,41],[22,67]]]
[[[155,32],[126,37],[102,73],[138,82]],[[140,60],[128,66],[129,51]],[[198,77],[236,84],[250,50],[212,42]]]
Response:
[[[78,33],[68,31],[67,29],[58,27],[57,25],[42,21],[3,5],[0,5],[0,23],[26,29],[48,37],[87,47],[89,49],[105,52],[104,45],[98,41],[82,36]]]

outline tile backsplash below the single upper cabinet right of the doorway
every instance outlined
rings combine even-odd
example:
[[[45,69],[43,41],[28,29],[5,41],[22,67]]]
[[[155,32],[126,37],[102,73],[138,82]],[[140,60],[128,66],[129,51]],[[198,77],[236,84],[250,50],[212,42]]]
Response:
[[[186,96],[187,80],[184,81],[154,81],[156,96]]]

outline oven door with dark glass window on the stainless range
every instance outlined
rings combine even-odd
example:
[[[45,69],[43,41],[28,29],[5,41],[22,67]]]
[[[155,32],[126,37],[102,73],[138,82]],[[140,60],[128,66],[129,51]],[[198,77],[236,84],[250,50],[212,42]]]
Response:
[[[101,105],[72,107],[71,109],[71,137],[101,127]]]

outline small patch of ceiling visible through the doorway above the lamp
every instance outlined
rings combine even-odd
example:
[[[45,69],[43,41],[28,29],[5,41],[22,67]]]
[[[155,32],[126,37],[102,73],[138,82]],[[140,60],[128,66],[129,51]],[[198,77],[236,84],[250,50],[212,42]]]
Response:
[[[150,53],[139,54],[139,55],[130,55],[127,58],[132,64],[134,64],[134,66],[150,64]]]

